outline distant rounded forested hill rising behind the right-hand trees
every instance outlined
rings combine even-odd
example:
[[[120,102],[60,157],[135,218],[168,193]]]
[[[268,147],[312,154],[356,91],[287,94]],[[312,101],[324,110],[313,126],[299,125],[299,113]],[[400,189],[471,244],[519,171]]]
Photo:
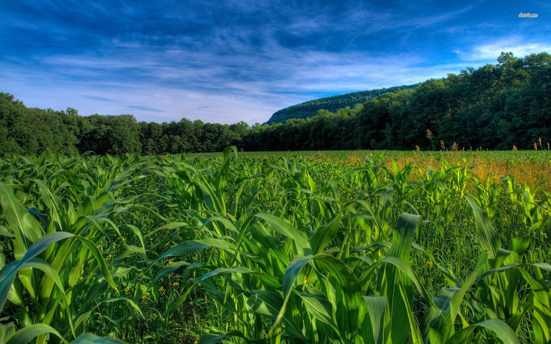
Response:
[[[274,114],[272,114],[272,117],[270,117],[270,119],[268,119],[266,123],[285,123],[285,121],[290,118],[314,117],[316,116],[318,110],[328,110],[330,112],[335,112],[339,108],[345,108],[347,106],[353,108],[356,104],[363,104],[364,102],[380,96],[381,94],[387,92],[395,92],[399,89],[410,89],[414,88],[417,85],[418,84],[393,86],[387,89],[358,91],[341,94],[338,96],[309,100],[304,103],[292,105],[274,112]]]

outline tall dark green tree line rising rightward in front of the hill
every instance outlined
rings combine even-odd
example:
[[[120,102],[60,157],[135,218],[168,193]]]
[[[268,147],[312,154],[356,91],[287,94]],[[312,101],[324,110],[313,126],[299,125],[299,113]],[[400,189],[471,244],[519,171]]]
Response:
[[[353,109],[254,125],[247,150],[547,149],[551,55],[501,53],[497,64],[387,92]]]

